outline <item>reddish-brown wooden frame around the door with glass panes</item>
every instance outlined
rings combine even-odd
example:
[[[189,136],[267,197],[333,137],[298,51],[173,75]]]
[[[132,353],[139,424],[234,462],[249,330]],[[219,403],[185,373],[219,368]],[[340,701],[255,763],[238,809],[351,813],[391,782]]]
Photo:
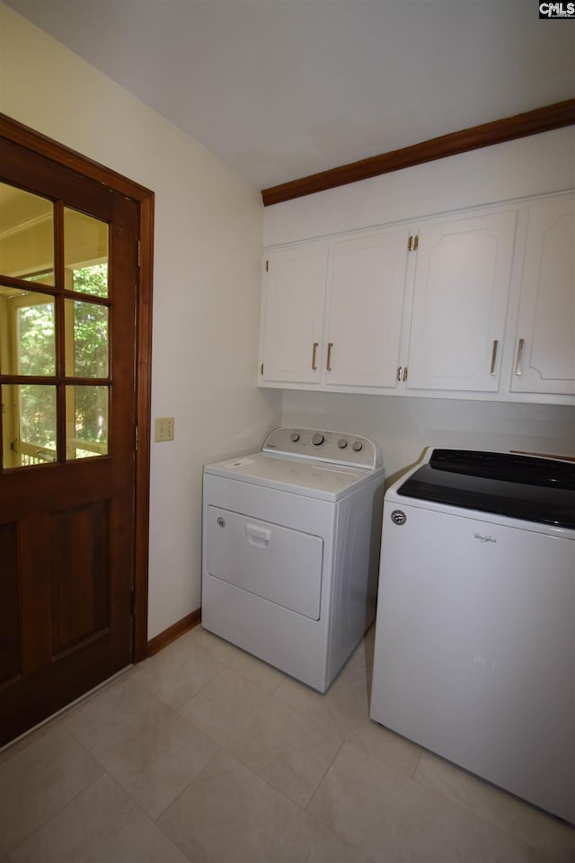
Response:
[[[0,138],[45,156],[90,180],[137,202],[140,266],[137,285],[137,394],[135,548],[134,548],[134,662],[147,655],[148,539],[150,488],[150,428],[152,389],[152,278],[154,266],[154,192],[111,168],[58,144],[40,132],[0,113]],[[136,254],[136,250],[135,250]]]

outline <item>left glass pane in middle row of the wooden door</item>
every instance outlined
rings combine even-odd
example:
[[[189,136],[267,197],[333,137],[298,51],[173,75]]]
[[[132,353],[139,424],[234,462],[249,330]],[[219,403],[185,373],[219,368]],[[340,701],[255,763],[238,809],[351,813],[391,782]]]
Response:
[[[0,372],[56,374],[53,297],[0,285]]]

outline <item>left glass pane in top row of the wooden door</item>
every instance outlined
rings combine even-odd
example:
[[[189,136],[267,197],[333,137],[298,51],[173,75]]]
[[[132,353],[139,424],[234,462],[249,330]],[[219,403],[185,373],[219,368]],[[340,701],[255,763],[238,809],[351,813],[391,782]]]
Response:
[[[54,204],[0,182],[0,272],[54,284]]]

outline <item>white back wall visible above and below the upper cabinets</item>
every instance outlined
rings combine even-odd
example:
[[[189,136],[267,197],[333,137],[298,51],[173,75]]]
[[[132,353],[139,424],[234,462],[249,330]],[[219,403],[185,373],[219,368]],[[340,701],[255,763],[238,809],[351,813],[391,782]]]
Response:
[[[418,165],[265,209],[264,245],[383,225],[575,186],[575,127]],[[575,455],[575,408],[285,390],[282,424],[358,432],[388,476],[426,446]]]

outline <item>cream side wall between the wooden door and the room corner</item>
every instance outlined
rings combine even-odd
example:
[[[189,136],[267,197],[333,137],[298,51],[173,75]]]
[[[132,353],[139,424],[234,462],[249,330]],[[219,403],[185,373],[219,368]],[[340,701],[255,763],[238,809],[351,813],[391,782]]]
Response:
[[[259,191],[155,111],[0,4],[0,111],[155,191],[153,637],[200,604],[201,467],[261,446],[279,393],[254,386]]]

